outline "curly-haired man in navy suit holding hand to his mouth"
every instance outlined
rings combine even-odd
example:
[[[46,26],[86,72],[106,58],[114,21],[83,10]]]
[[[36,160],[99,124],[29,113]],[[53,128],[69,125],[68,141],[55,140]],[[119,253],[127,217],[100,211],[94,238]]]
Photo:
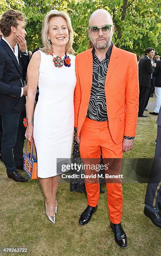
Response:
[[[22,73],[24,69],[27,70],[29,63],[25,40],[25,19],[25,15],[17,10],[8,10],[0,18],[0,30],[3,33],[0,40],[2,160],[7,169],[7,177],[16,182],[27,181],[27,178],[16,169],[16,165],[21,165],[23,162],[20,158],[23,156],[25,140],[22,123],[27,87],[24,87]]]

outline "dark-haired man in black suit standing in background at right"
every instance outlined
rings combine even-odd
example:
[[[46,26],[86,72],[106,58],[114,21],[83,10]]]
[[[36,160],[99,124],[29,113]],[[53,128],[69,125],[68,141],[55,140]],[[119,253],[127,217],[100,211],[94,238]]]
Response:
[[[144,115],[144,109],[150,97],[152,87],[152,73],[155,70],[156,63],[151,63],[154,57],[154,49],[147,48],[145,56],[139,61],[139,117],[147,117]]]

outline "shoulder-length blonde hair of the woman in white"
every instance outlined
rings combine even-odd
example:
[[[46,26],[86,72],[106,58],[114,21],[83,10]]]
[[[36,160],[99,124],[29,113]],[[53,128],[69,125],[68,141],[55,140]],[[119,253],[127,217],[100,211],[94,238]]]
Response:
[[[67,28],[68,28],[68,31],[69,31],[69,41],[66,44],[65,52],[69,53],[69,54],[74,54],[75,51],[72,48],[73,29],[72,29],[71,20],[70,20],[69,15],[67,13],[59,12],[58,10],[50,10],[50,12],[47,13],[47,15],[45,16],[45,18],[43,20],[41,33],[42,33],[42,43],[43,43],[44,47],[41,48],[40,50],[43,51],[46,54],[50,54],[50,52],[53,50],[52,49],[52,44],[50,44],[50,42],[48,41],[48,38],[47,38],[47,35],[49,33],[49,21],[53,17],[62,17],[67,22]]]

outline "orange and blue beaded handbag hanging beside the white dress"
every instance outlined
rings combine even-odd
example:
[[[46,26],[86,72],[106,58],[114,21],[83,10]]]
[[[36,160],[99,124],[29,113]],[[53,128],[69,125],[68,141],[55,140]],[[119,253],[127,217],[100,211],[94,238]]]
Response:
[[[29,152],[30,147],[30,152]],[[37,177],[37,153],[35,148],[34,139],[31,142],[27,141],[26,153],[24,155],[23,169],[30,177],[30,179],[38,179]]]

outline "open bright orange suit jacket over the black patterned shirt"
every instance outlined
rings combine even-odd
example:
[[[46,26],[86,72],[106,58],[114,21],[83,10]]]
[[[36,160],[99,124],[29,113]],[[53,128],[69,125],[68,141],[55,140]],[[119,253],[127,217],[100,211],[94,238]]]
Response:
[[[77,84],[74,91],[74,127],[79,135],[87,115],[92,87],[92,49],[77,54]],[[114,143],[124,135],[136,135],[139,107],[139,79],[136,55],[113,45],[105,82],[109,130]]]

